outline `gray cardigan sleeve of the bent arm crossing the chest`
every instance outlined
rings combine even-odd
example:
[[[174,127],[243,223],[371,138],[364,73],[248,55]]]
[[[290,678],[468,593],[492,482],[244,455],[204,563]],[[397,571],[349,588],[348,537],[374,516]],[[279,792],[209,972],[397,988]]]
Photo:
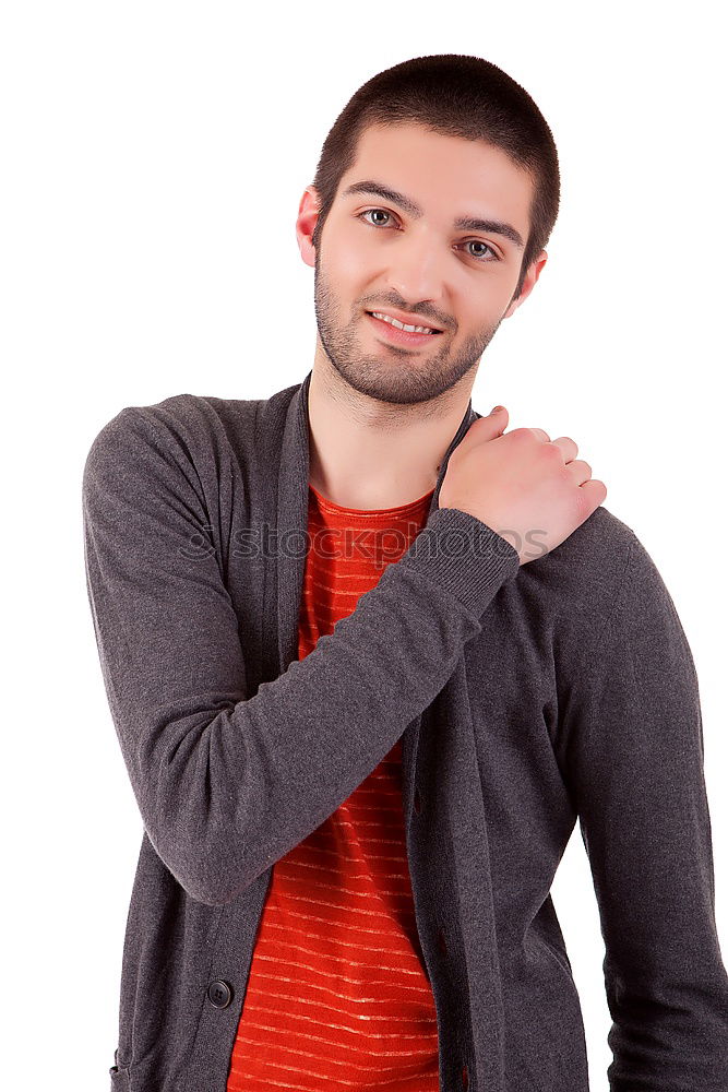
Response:
[[[460,557],[417,551],[418,536],[333,633],[251,695],[243,641],[259,620],[236,614],[189,443],[150,408],[122,410],[86,456],[88,601],[150,841],[193,899],[223,905],[391,750],[520,559],[468,513],[437,510],[430,545],[445,546],[452,532]],[[465,565],[462,532],[473,544]]]

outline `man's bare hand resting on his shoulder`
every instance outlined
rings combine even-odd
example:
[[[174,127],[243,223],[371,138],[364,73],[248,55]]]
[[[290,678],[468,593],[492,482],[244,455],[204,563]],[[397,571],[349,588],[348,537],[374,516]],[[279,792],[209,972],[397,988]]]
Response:
[[[568,436],[550,440],[541,428],[505,432],[500,406],[470,425],[450,456],[440,508],[469,512],[511,542],[521,565],[550,553],[602,503],[604,482],[575,459]],[[532,535],[538,535],[537,541]],[[534,553],[534,545],[540,551]]]

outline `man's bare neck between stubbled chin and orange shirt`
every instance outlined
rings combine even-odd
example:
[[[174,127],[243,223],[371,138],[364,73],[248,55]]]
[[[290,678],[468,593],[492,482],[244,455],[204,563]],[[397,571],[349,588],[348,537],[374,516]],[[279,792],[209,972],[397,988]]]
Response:
[[[374,511],[434,489],[470,391],[446,404],[384,405],[314,365],[308,395],[309,482],[345,508]]]

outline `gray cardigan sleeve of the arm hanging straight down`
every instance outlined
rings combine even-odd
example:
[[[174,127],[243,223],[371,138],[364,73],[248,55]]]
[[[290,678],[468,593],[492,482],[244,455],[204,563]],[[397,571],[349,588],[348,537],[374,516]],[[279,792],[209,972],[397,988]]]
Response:
[[[560,707],[605,941],[610,1090],[726,1092],[728,977],[697,678],[672,598],[633,533],[611,610]]]

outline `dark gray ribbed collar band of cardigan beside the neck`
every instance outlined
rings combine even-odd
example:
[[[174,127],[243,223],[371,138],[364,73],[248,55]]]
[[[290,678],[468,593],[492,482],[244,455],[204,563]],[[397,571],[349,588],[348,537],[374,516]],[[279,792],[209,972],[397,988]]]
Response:
[[[281,464],[278,468],[277,529],[285,534],[286,543],[303,542],[308,533],[309,501],[309,388],[312,369],[296,389],[286,412]],[[450,455],[464,438],[468,428],[480,417],[470,399],[457,430],[450,442],[438,474],[428,519],[438,508],[440,487],[445,476]],[[300,595],[306,569],[306,550],[284,554],[285,563],[278,567],[278,667],[287,670],[298,658],[298,621]]]

